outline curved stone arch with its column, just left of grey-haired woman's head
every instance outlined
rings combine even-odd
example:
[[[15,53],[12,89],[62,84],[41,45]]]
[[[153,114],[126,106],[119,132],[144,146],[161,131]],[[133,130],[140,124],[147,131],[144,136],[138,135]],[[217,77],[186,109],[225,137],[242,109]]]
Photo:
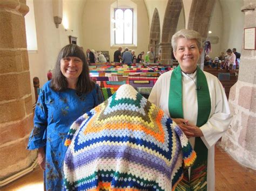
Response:
[[[167,2],[164,22],[161,32],[161,43],[159,48],[161,50],[161,63],[171,64],[172,60],[172,45],[171,39],[177,30],[177,24],[181,9],[183,8],[182,0],[169,0]]]

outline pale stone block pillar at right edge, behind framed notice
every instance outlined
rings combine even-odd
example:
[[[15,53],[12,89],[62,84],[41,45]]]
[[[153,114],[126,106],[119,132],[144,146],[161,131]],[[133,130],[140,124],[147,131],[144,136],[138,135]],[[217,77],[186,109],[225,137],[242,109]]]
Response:
[[[256,26],[256,0],[244,0],[245,28]],[[241,37],[240,37],[241,38]],[[242,45],[244,47],[244,45]],[[241,52],[238,82],[228,102],[234,115],[221,146],[240,164],[256,169],[256,51]]]

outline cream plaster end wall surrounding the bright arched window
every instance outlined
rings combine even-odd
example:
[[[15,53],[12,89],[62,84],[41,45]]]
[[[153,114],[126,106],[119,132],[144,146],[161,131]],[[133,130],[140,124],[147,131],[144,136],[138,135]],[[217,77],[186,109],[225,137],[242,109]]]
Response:
[[[82,17],[83,47],[95,51],[109,51],[113,61],[114,51],[118,46],[110,46],[110,6],[114,0],[87,0]],[[129,47],[135,54],[146,52],[149,45],[149,19],[144,1],[133,0],[137,4],[137,46]],[[124,48],[124,47],[123,47]]]

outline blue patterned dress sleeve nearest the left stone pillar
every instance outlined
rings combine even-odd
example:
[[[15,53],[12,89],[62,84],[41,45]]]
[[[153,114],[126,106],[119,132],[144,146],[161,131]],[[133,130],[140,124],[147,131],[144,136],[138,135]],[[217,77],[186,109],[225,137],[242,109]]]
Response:
[[[28,149],[33,150],[46,145],[48,109],[45,104],[45,88],[41,89],[35,109],[34,127],[30,133]]]

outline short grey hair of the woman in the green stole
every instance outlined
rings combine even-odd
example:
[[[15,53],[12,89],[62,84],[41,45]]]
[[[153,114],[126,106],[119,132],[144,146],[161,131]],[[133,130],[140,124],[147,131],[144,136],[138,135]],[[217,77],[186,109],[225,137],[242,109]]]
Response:
[[[172,48],[173,51],[177,51],[177,41],[179,38],[195,39],[197,41],[198,49],[202,48],[202,37],[199,32],[188,29],[181,29],[172,36]]]

